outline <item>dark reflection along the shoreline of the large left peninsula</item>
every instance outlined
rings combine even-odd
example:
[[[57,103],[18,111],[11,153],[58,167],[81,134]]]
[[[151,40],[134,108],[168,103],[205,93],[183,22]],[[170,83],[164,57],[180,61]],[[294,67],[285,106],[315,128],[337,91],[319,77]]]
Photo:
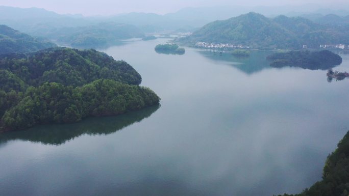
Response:
[[[82,134],[110,134],[142,121],[151,116],[159,107],[160,105],[151,106],[114,117],[87,118],[73,124],[39,125],[23,131],[5,132],[0,134],[0,145],[15,139],[60,145]]]

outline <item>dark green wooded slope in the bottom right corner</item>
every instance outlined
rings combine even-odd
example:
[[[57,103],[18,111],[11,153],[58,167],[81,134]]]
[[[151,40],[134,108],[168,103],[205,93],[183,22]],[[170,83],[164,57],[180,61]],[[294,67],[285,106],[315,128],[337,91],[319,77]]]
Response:
[[[349,193],[349,131],[338,143],[323,167],[322,180],[300,194],[283,196],[344,196]],[[282,195],[279,195],[282,196]]]

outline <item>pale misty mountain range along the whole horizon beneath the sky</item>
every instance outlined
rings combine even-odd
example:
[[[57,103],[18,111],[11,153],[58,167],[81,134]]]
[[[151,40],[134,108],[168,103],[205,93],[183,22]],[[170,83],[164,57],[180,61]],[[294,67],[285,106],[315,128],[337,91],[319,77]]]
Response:
[[[292,10],[297,10],[297,12],[292,12]],[[132,12],[113,16],[89,17],[79,14],[57,14],[39,8],[23,9],[0,6],[0,24],[6,24],[13,29],[32,36],[46,36],[47,32],[59,31],[61,28],[91,26],[103,22],[132,24],[143,31],[143,33],[192,32],[209,22],[228,19],[251,11],[268,17],[284,14],[286,16],[304,16],[311,20],[319,19],[327,14],[336,14],[340,17],[349,15],[347,10],[321,9],[321,7],[316,5],[293,7],[216,6],[183,8],[177,12],[164,15]]]

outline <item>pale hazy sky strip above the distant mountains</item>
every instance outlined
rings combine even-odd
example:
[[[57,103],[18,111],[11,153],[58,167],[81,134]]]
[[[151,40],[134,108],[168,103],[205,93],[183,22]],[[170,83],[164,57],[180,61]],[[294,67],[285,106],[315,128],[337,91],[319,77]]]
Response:
[[[153,12],[165,14],[185,7],[208,6],[287,6],[318,4],[320,6],[349,9],[349,0],[0,0],[1,6],[44,8],[60,14],[112,15],[127,12]]]

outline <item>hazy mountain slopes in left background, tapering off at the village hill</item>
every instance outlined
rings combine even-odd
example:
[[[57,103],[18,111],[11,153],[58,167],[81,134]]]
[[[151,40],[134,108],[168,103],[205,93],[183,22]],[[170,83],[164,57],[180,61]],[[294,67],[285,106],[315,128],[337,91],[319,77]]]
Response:
[[[66,28],[87,27],[104,22],[126,23],[138,27],[145,33],[172,32],[178,29],[189,31],[209,21],[173,19],[154,13],[126,13],[113,16],[62,15],[38,8],[13,8],[0,6],[0,23],[21,32],[46,37],[52,32],[63,32]],[[83,29],[83,28],[82,28]]]

